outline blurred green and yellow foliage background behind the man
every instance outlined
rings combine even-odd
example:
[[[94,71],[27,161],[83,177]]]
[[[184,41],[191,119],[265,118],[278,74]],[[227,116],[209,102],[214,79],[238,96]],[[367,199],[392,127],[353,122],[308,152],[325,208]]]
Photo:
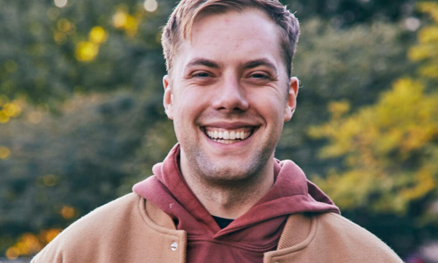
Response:
[[[283,4],[301,87],[276,157],[406,262],[438,262],[438,2]],[[0,0],[0,262],[28,262],[174,145],[160,46],[174,6]]]

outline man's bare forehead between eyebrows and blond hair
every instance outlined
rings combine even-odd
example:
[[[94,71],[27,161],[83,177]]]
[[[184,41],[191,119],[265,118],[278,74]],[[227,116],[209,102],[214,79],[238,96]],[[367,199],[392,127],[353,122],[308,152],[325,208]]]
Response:
[[[181,43],[176,68],[184,68],[194,58],[225,66],[266,59],[277,68],[284,68],[279,28],[261,10],[200,14],[191,29],[191,38]]]

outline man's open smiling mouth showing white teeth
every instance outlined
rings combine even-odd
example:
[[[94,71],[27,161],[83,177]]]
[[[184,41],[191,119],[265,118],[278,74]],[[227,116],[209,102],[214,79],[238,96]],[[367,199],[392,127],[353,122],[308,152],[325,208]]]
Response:
[[[232,144],[247,140],[256,130],[255,126],[241,127],[237,129],[224,129],[217,127],[202,127],[208,139],[223,144]]]

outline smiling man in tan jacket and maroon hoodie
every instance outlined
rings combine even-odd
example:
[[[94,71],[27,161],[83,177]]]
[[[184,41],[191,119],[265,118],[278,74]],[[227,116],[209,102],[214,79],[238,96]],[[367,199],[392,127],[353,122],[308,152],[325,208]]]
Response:
[[[182,0],[164,28],[178,144],[154,176],[32,262],[402,262],[274,149],[296,107],[298,21],[276,0]]]

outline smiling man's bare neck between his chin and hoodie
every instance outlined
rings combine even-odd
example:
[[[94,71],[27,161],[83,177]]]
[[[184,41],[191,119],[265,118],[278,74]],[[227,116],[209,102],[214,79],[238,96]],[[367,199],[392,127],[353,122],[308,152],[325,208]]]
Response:
[[[240,180],[211,180],[196,173],[181,155],[180,169],[187,185],[207,209],[217,217],[236,219],[258,202],[274,184],[273,155],[257,173]]]

